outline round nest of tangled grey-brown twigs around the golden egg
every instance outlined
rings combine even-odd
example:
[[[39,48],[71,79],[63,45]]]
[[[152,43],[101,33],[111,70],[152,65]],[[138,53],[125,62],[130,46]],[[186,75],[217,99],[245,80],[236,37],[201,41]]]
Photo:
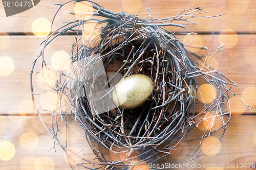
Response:
[[[60,8],[65,4],[60,5]],[[66,120],[63,115],[73,117],[86,131],[98,162],[92,163],[83,158],[83,162],[76,162],[76,165],[93,169],[87,165],[90,163],[98,165],[95,169],[129,169],[160,158],[175,164],[179,156],[184,156],[182,152],[189,142],[194,142],[194,150],[190,154],[186,153],[193,156],[187,160],[190,163],[207,153],[202,151],[203,147],[200,148],[202,140],[219,130],[219,138],[222,138],[231,116],[229,89],[236,84],[205,62],[200,63],[202,56],[190,52],[188,44],[183,44],[176,37],[177,34],[165,29],[167,26],[184,27],[173,21],[187,21],[189,17],[201,13],[198,11],[202,8],[185,10],[174,17],[154,19],[148,9],[150,18],[140,18],[138,15],[114,13],[95,3],[91,4],[97,19],[68,22],[49,34],[31,72],[32,78],[36,61],[44,57],[44,50],[51,45],[52,40],[57,40],[64,33],[75,33],[76,41],[70,50],[70,69],[66,72],[57,70],[61,76],[53,87],[58,93],[58,101],[67,98],[71,107],[63,110],[61,103],[57,102],[52,115],[60,115],[61,120]],[[83,15],[72,14],[80,15],[81,18]],[[98,16],[101,18],[98,19]],[[93,27],[88,32],[86,28],[89,25]],[[216,52],[220,52],[221,48],[218,47]],[[42,62],[47,64],[45,60]],[[135,109],[115,107],[112,101],[115,84],[123,77],[134,74],[152,79],[154,90],[150,98]],[[212,103],[203,104],[204,110],[196,113],[200,77],[218,93]],[[202,122],[207,112],[212,113],[210,130],[206,129],[200,136],[188,139],[189,133]],[[222,123],[218,128],[215,127],[217,119]],[[55,142],[67,150],[66,145],[59,142],[58,127],[54,130],[54,126],[49,132]],[[169,155],[177,151],[181,141],[183,144],[179,154],[170,158]],[[104,157],[98,145],[108,149],[117,160]],[[125,160],[123,157],[126,157]]]

